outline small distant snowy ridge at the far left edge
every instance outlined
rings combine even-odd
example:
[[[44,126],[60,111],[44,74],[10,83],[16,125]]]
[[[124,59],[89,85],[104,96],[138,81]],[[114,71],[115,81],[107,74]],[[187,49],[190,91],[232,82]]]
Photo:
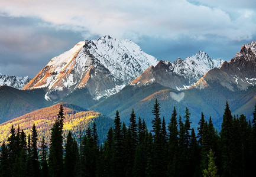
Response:
[[[0,74],[0,86],[9,86],[15,89],[22,89],[31,79],[28,76],[16,77]]]

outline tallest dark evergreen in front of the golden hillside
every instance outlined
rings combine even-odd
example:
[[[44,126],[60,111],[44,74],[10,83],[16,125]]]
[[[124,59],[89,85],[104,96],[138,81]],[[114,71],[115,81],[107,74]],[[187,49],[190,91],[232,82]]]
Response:
[[[62,176],[63,173],[63,121],[64,111],[60,105],[58,118],[51,128],[49,148],[49,172],[50,176]]]

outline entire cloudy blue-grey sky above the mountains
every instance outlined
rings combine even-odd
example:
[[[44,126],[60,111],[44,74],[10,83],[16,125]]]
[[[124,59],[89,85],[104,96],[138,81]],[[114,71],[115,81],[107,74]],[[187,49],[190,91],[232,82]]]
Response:
[[[256,41],[254,0],[0,0],[0,73],[34,77],[51,58],[102,35],[158,60],[202,50],[230,60]]]

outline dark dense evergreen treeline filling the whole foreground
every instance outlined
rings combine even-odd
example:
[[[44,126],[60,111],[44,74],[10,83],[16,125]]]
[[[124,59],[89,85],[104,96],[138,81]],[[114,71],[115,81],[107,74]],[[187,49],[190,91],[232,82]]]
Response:
[[[121,122],[118,111],[115,126],[99,146],[96,124],[86,129],[77,144],[72,133],[63,145],[63,107],[51,128],[50,147],[44,138],[37,148],[37,129],[26,137],[15,131],[1,146],[1,176],[251,176],[256,168],[256,104],[252,123],[246,117],[232,116],[228,102],[221,132],[202,113],[197,130],[190,127],[189,109],[184,117],[175,107],[166,124],[155,100],[153,130],[134,110],[129,124]],[[82,131],[80,129],[80,131]],[[197,135],[196,135],[197,132]],[[64,146],[64,147],[63,147]]]

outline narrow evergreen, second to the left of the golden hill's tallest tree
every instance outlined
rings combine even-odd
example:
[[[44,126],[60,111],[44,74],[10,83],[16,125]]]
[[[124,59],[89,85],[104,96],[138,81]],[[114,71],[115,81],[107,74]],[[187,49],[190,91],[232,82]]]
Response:
[[[38,152],[37,152],[37,129],[35,128],[35,123],[33,124],[32,134],[31,134],[31,150],[32,150],[32,164],[33,164],[33,175],[37,177],[39,175],[39,162],[38,162]]]

